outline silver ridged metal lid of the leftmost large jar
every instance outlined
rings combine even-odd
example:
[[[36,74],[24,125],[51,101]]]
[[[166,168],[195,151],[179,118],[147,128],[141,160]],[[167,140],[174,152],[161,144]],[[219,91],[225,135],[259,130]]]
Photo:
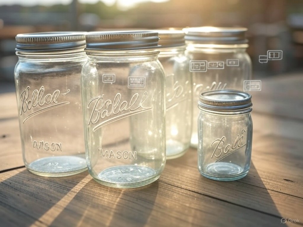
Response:
[[[85,32],[42,32],[16,36],[16,50],[45,51],[85,47]]]

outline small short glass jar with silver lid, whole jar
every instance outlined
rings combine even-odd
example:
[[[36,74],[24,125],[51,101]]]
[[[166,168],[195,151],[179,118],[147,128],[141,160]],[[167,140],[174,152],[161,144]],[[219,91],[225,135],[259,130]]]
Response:
[[[198,107],[198,169],[214,180],[237,180],[251,162],[251,95],[215,90],[200,95]]]

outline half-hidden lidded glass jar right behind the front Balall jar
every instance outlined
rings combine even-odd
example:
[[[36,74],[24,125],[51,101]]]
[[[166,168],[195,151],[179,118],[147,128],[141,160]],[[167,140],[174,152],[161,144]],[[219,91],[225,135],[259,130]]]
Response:
[[[182,156],[191,140],[191,78],[184,32],[158,30],[159,61],[166,75],[166,159]]]

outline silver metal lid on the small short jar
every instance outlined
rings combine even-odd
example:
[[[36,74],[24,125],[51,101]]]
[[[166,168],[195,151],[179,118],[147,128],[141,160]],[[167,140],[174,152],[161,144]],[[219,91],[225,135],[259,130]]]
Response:
[[[214,111],[238,111],[250,112],[251,94],[238,90],[214,90],[200,94],[198,107],[200,109]]]

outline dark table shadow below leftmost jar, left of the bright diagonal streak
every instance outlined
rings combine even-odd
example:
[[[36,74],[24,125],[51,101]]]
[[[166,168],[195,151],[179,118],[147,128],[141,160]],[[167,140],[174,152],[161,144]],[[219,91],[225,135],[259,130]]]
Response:
[[[18,170],[2,173],[2,176],[13,171]],[[4,179],[0,183],[0,225],[31,226],[35,224],[37,219],[52,209],[87,174],[85,171],[62,178],[41,177],[25,169]]]

